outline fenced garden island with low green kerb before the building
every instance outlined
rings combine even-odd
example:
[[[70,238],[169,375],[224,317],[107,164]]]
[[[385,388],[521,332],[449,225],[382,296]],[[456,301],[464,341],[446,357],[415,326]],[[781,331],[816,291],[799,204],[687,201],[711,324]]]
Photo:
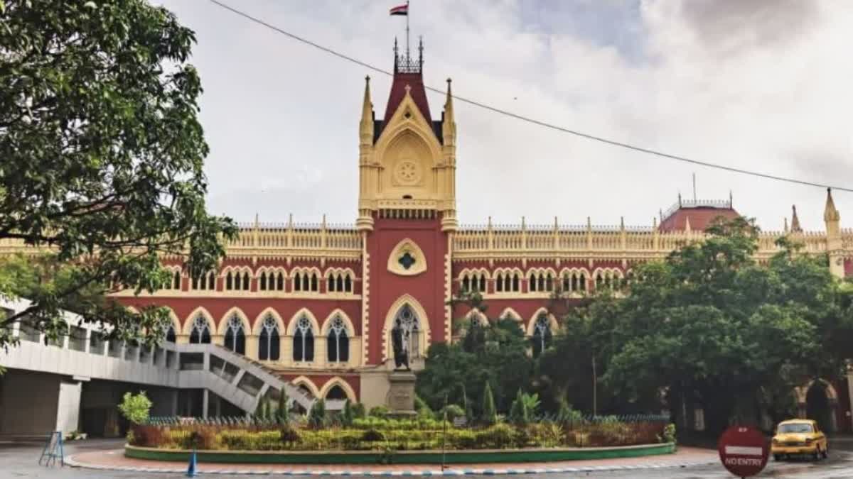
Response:
[[[349,403],[327,414],[317,401],[305,416],[152,418],[128,433],[125,455],[207,463],[476,464],[612,459],[675,451],[675,427],[664,416],[554,417],[468,423],[459,407],[438,414],[392,417],[384,407],[366,414]],[[446,418],[446,419],[445,419]]]

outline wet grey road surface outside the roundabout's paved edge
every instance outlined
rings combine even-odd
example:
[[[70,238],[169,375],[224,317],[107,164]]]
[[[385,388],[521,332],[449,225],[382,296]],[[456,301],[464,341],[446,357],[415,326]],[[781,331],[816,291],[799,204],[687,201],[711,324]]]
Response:
[[[833,441],[833,453],[827,460],[820,463],[811,463],[807,460],[798,460],[786,463],[774,463],[772,460],[768,468],[763,471],[761,477],[775,478],[802,478],[802,479],[849,479],[853,477],[853,438],[839,439]],[[79,453],[97,449],[114,449],[121,447],[121,441],[80,441],[73,442],[66,447],[66,454]],[[106,470],[86,470],[71,467],[44,468],[39,467],[38,456],[41,447],[36,444],[9,445],[0,444],[0,479],[12,477],[50,477],[50,478],[110,478],[110,477],[142,477],[154,479],[160,477],[178,477],[180,475],[154,474],[140,472],[120,472]],[[225,476],[215,477],[239,477],[247,476]],[[519,479],[521,476],[505,476],[503,479]],[[722,469],[722,466],[702,466],[684,469],[661,469],[661,470],[628,470],[624,472],[597,472],[583,474],[547,474],[530,475],[524,477],[536,477],[537,479],[575,479],[581,477],[612,477],[612,478],[638,478],[638,479],[723,479],[732,477]]]

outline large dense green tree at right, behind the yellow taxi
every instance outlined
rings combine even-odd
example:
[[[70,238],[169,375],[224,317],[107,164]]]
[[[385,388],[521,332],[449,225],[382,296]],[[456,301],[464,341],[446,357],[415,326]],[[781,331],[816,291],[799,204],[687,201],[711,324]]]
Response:
[[[665,391],[674,412],[702,407],[711,431],[761,409],[783,416],[794,386],[838,377],[853,339],[850,300],[826,257],[783,239],[779,254],[757,263],[757,228],[743,218],[708,233],[635,268],[624,298],[595,298],[572,312],[566,329],[576,338],[558,342],[540,369],[572,389],[591,382],[577,372],[560,376],[563,355],[579,363],[595,355],[612,397]]]

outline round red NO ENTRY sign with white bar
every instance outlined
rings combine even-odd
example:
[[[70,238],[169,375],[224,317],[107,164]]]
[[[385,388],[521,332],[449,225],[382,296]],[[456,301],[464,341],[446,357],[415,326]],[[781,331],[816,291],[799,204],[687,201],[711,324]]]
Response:
[[[732,426],[717,444],[722,465],[735,476],[755,476],[767,465],[770,450],[760,430]]]

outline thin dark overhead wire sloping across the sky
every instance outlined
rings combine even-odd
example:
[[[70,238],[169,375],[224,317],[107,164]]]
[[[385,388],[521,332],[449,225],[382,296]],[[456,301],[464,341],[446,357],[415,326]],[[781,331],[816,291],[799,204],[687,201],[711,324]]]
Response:
[[[258,25],[264,26],[266,28],[269,28],[270,30],[281,33],[282,35],[284,35],[288,38],[292,38],[293,40],[296,40],[300,43],[305,43],[306,45],[310,45],[311,47],[314,47],[315,49],[322,50],[322,51],[328,53],[329,55],[337,56],[338,58],[340,58],[342,60],[350,61],[351,63],[355,63],[358,66],[363,66],[363,67],[367,68],[368,70],[372,70],[374,72],[382,73],[384,75],[388,75],[391,77],[394,75],[393,72],[390,72],[390,71],[385,70],[383,68],[380,68],[378,66],[370,65],[369,63],[358,60],[357,58],[351,57],[350,55],[342,54],[337,50],[330,49],[330,48],[325,47],[319,43],[312,42],[307,38],[299,37],[299,35],[293,34],[291,32],[287,32],[287,30],[284,30],[279,26],[272,25],[272,24],[270,24],[264,20],[259,19],[258,17],[252,16],[250,14],[247,14],[246,12],[235,9],[226,3],[219,2],[218,0],[208,0],[208,2],[213,3],[213,4],[217,5],[218,7],[223,8],[223,9],[226,9],[233,14],[240,15],[241,17],[243,17],[247,20],[250,20],[254,23],[257,23]],[[432,92],[442,94],[442,95],[444,95],[446,93],[444,89],[438,89],[438,88],[435,88],[435,87],[432,87],[432,86],[429,86],[426,84],[424,85],[424,88],[426,88]],[[538,126],[548,128],[549,130],[556,130],[556,131],[560,131],[562,133],[568,133],[570,135],[579,136],[581,138],[586,138],[588,140],[599,141],[601,143],[605,143],[607,145],[612,145],[614,147],[621,147],[621,148],[633,150],[635,152],[647,153],[647,154],[651,154],[654,156],[659,156],[661,158],[674,159],[676,161],[681,161],[684,163],[698,164],[699,166],[705,166],[706,168],[713,168],[713,169],[717,169],[717,170],[729,171],[732,173],[738,173],[740,175],[757,176],[759,178],[775,180],[778,182],[789,182],[789,183],[795,183],[795,184],[799,184],[799,185],[806,185],[806,186],[810,186],[810,187],[833,188],[834,190],[853,193],[853,188],[844,188],[844,187],[833,186],[833,185],[828,185],[828,184],[823,184],[823,183],[818,183],[818,182],[809,182],[807,180],[800,180],[797,178],[791,178],[791,177],[787,177],[787,176],[770,175],[769,173],[762,173],[759,171],[744,170],[741,168],[735,168],[734,166],[726,166],[724,164],[710,163],[710,162],[702,161],[699,159],[691,159],[691,158],[676,155],[676,154],[664,153],[664,152],[661,152],[659,150],[654,150],[652,148],[639,147],[636,145],[632,145],[630,143],[625,143],[624,141],[611,140],[609,138],[605,138],[604,136],[596,136],[596,135],[592,135],[589,133],[584,133],[583,131],[572,130],[570,128],[560,126],[558,124],[548,123],[548,122],[545,122],[543,120],[538,120],[536,118],[525,117],[524,115],[519,115],[518,113],[513,113],[513,112],[510,112],[508,110],[504,110],[502,108],[492,107],[492,106],[487,105],[483,102],[471,100],[471,99],[466,98],[464,96],[459,96],[459,95],[452,95],[452,96],[456,101],[461,101],[463,103],[473,105],[474,107],[483,108],[484,110],[488,110],[488,111],[493,112],[493,113],[498,113],[498,114],[501,114],[501,115],[504,115],[504,116],[507,116],[510,118],[515,118],[515,119],[518,119],[518,120],[521,120],[521,121],[524,121],[524,122],[527,122],[530,124],[536,124]]]

